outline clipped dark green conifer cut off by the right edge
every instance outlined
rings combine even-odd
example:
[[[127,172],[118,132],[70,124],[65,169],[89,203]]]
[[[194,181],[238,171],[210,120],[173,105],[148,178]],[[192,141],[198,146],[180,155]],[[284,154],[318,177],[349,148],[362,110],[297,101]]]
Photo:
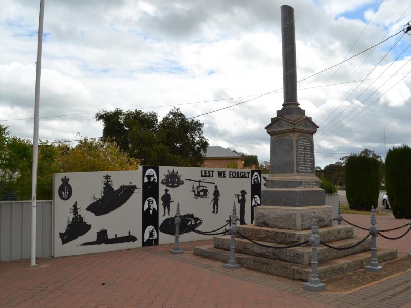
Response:
[[[393,147],[385,160],[385,185],[395,218],[411,219],[411,148]]]

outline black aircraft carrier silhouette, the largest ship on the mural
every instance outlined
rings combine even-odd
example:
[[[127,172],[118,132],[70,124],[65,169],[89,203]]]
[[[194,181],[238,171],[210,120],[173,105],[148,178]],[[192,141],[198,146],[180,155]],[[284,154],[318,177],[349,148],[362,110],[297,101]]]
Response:
[[[91,204],[87,206],[86,210],[94,213],[96,216],[110,213],[122,206],[133,195],[134,190],[138,189],[136,185],[121,185],[114,190],[113,181],[110,175],[104,176],[103,181],[103,195],[101,198],[96,198],[93,194],[91,197]],[[94,202],[93,202],[94,200]]]

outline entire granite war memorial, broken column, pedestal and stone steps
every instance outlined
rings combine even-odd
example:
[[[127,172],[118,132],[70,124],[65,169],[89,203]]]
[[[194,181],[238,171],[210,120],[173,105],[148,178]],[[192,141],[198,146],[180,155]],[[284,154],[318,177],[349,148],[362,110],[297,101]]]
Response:
[[[241,266],[277,276],[308,281],[311,276],[312,217],[317,217],[322,242],[342,250],[318,246],[321,280],[365,267],[371,258],[371,238],[361,238],[349,225],[333,225],[332,210],[315,176],[313,135],[318,126],[305,115],[297,99],[297,66],[294,9],[281,7],[284,103],[265,127],[270,135],[270,177],[261,191],[261,206],[254,208],[254,223],[238,226],[235,258]],[[249,239],[263,245],[252,243]],[[277,248],[271,248],[277,247]],[[194,249],[194,254],[227,262],[230,236],[217,236],[213,246]],[[397,258],[397,249],[378,247],[378,261]]]

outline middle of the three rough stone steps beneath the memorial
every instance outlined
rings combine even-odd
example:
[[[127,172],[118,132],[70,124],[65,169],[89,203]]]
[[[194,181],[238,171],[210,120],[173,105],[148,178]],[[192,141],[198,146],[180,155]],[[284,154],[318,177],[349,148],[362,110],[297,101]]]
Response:
[[[350,247],[358,243],[360,240],[362,240],[362,238],[353,237],[350,239],[334,241],[334,242],[329,243],[329,245],[333,247],[339,247],[339,248]],[[263,241],[256,241],[256,242],[259,244],[272,246],[272,247],[287,246],[283,244],[269,243],[269,242],[263,242]],[[225,249],[229,251],[230,250],[230,236],[227,235],[227,236],[214,237],[214,248]],[[320,244],[318,246],[318,260],[321,262],[321,261],[339,258],[342,256],[348,256],[348,255],[364,252],[364,251],[370,251],[370,248],[371,248],[371,237],[366,239],[363,243],[361,243],[357,247],[347,249],[347,250],[342,250],[342,251],[331,249],[331,248],[325,247],[324,245]],[[246,255],[260,256],[260,257],[271,258],[271,259],[276,259],[280,261],[286,261],[290,263],[304,264],[304,265],[311,263],[311,254],[312,254],[311,246],[293,247],[293,248],[286,248],[286,249],[273,249],[273,248],[259,246],[257,244],[250,242],[247,239],[242,239],[238,237],[235,239],[235,251],[242,253],[242,254],[246,254]]]

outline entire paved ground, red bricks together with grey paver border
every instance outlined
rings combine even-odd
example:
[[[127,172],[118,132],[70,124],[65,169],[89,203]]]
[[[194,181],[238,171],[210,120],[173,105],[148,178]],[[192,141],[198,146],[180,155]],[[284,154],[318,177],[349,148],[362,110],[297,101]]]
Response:
[[[369,227],[369,216],[347,214]],[[379,229],[409,220],[377,216]],[[407,228],[386,235],[396,237]],[[366,234],[356,229],[359,236]],[[168,253],[172,244],[72,257],[0,263],[0,307],[411,307],[411,271],[358,290],[312,293],[292,281],[222,264],[191,254],[208,241],[182,243],[183,255]],[[411,232],[399,240],[378,237],[378,245],[411,252]],[[383,265],[383,264],[382,264]],[[320,277],[321,279],[321,277]]]

